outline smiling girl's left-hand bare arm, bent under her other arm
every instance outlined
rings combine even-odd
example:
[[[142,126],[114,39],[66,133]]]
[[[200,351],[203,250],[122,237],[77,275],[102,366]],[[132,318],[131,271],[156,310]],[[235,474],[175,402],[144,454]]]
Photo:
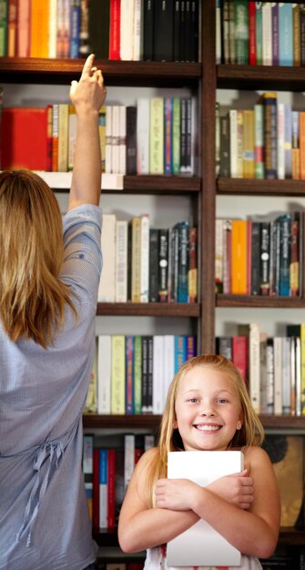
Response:
[[[156,451],[156,448],[150,449],[137,463],[119,515],[118,541],[127,553],[168,543],[199,519],[191,510],[177,515],[177,511],[148,507],[144,482]]]

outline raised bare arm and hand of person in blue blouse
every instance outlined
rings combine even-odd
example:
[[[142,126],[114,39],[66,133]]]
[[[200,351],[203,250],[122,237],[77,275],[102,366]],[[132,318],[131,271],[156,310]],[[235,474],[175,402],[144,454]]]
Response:
[[[70,98],[76,108],[76,153],[68,209],[80,204],[99,204],[101,192],[101,151],[98,111],[106,89],[94,55],[86,58],[80,80],[72,81]]]

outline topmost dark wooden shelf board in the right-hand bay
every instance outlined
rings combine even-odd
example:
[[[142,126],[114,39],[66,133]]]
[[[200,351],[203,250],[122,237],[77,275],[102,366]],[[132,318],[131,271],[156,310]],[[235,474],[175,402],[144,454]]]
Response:
[[[262,91],[304,91],[302,67],[217,66],[217,87]]]

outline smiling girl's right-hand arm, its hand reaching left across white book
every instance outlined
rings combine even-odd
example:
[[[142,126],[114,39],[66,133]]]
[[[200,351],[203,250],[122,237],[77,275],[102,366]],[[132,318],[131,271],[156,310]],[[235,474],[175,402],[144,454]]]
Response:
[[[185,479],[158,482],[159,507],[192,511],[222,534],[244,555],[268,557],[277,545],[280,529],[280,494],[267,453],[253,447],[246,463],[254,481],[254,500],[248,510]]]

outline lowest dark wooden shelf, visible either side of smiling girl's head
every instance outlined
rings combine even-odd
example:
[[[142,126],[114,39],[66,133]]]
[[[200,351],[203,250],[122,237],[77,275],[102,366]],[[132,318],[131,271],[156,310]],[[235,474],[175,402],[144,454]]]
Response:
[[[97,415],[86,413],[83,415],[84,428],[124,428],[127,430],[140,428],[158,430],[161,422],[160,415],[152,413],[125,414],[125,415]],[[305,430],[305,416],[266,415],[259,416],[264,428]]]

